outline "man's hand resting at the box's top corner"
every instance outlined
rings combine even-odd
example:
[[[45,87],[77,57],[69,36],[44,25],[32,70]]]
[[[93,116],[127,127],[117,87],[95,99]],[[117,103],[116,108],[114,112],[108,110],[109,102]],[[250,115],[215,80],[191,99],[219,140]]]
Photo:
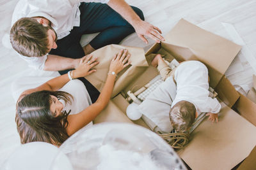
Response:
[[[160,43],[160,40],[164,41],[163,36],[161,36],[162,31],[158,27],[155,27],[146,21],[140,20],[140,22],[134,24],[134,29],[138,34],[138,37],[145,43],[148,43],[148,40],[145,38],[145,36],[148,36],[157,43]]]

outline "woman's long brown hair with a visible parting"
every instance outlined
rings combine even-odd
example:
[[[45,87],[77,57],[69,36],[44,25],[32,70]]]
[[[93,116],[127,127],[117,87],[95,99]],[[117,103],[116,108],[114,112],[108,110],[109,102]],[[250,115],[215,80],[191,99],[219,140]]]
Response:
[[[73,97],[67,92],[42,90],[24,96],[16,106],[15,122],[22,144],[44,141],[59,146],[69,136],[66,131],[70,111],[54,117],[50,110],[51,95],[70,103]]]

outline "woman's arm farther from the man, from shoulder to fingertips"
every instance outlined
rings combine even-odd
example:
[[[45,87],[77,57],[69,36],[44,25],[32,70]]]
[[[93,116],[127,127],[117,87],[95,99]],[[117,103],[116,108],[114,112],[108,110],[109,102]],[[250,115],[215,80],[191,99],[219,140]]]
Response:
[[[76,131],[92,122],[92,120],[96,118],[97,115],[99,115],[99,113],[107,106],[113,92],[116,74],[131,63],[128,61],[129,57],[130,55],[127,54],[127,50],[121,50],[118,55],[115,55],[109,66],[106,83],[100,92],[100,96],[97,101],[76,115],[68,115],[68,135],[74,134]]]

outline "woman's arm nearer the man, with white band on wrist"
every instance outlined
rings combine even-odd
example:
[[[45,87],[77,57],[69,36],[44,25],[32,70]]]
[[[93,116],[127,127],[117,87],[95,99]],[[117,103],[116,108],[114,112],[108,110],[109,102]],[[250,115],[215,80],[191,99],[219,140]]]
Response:
[[[81,62],[79,64],[79,66],[75,70],[72,71],[73,78],[79,78],[79,77],[87,76],[87,75],[96,71],[95,69],[92,69],[92,67],[99,64],[99,62],[96,61],[97,58],[94,58],[92,60],[90,60],[90,59],[92,59],[92,55],[86,55],[85,57],[83,57],[81,59]],[[90,62],[88,62],[88,61],[90,61]],[[41,91],[41,90],[50,90],[50,91],[59,90],[69,80],[70,79],[68,78],[68,74],[63,74],[63,75],[58,76],[56,78],[52,78],[51,80],[49,80],[49,81],[45,82],[44,84],[36,87],[35,89],[25,90],[24,92],[22,92],[22,94],[20,94],[20,97],[25,96],[27,94],[31,94],[33,92],[38,92],[38,91]],[[19,99],[20,99],[20,97],[19,97]]]

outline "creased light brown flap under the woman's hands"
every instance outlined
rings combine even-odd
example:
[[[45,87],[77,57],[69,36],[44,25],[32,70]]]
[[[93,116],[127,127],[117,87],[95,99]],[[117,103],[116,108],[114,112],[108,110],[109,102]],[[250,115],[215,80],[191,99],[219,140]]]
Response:
[[[107,74],[109,71],[109,64],[116,53],[120,52],[121,49],[126,48],[131,54],[131,66],[125,68],[122,72],[118,73],[118,78],[115,82],[113,89],[113,96],[116,96],[122,89],[124,89],[133,80],[134,77],[138,76],[148,66],[145,60],[145,52],[143,48],[121,46],[121,45],[108,45],[92,52],[93,57],[98,57],[99,64],[94,68],[97,69],[95,73],[86,76],[86,79],[92,83],[99,91],[104,87]]]

